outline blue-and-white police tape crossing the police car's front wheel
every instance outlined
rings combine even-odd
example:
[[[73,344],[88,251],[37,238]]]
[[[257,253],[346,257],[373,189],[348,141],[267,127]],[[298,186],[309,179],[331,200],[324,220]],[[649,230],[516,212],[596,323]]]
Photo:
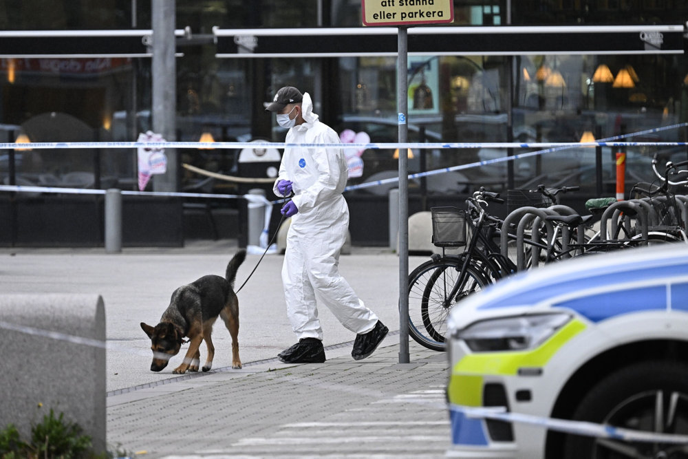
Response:
[[[536,425],[565,434],[609,438],[625,442],[665,443],[673,445],[688,444],[688,435],[663,434],[626,429],[624,427],[614,427],[608,424],[596,424],[583,420],[546,418],[530,414],[513,413],[507,412],[505,407],[467,407],[450,403],[449,410],[464,414],[467,418],[487,418],[502,420],[508,423]]]

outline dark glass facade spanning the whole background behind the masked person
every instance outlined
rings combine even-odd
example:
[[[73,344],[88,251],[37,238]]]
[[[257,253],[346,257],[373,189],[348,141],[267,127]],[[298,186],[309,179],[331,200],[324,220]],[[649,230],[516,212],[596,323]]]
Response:
[[[36,10],[46,14],[32,14]],[[451,25],[676,24],[676,18],[686,17],[688,6],[678,0],[455,1]],[[151,1],[4,0],[0,25],[6,31],[146,30],[151,28]],[[366,55],[372,46],[368,41],[359,43],[358,55],[299,57],[302,47],[319,40],[303,35],[301,45],[280,51],[283,56],[222,58],[217,56],[215,27],[277,28],[297,37],[307,28],[361,28],[361,1],[177,0],[176,28],[191,31],[177,42],[183,54],[177,58],[177,140],[195,141],[209,133],[214,140],[281,141],[285,131],[261,104],[279,87],[295,85],[312,94],[316,113],[343,141],[396,141],[396,57]],[[647,41],[652,44],[653,37]],[[687,121],[684,54],[609,53],[604,44],[600,52],[534,54],[537,43],[532,47],[533,52],[523,54],[409,56],[409,141],[578,142],[585,131],[598,139],[643,132],[632,138],[685,140],[685,128],[645,132]],[[21,134],[34,142],[131,141],[151,129],[149,57],[8,54],[0,58],[0,76],[0,141],[12,142]],[[513,153],[524,151],[532,149]],[[363,167],[352,174],[351,184],[398,170],[394,151],[357,153]],[[508,153],[491,148],[418,150],[412,152],[409,171]],[[629,149],[627,181],[649,180],[654,153],[686,156],[685,148]],[[594,148],[577,148],[516,160],[512,185],[576,184],[594,193],[595,155]],[[612,149],[603,149],[605,192],[614,180],[614,155]],[[17,180],[25,183],[136,188],[131,150],[17,151],[15,156]],[[229,175],[239,173],[238,156],[239,151],[232,150],[180,151],[181,162]],[[0,153],[5,182],[8,160],[8,153]],[[180,190],[197,179],[182,175]],[[416,185],[411,183],[412,193]],[[427,193],[480,185],[504,189],[506,163],[437,175],[424,184]],[[214,191],[231,192],[233,187],[216,182]]]

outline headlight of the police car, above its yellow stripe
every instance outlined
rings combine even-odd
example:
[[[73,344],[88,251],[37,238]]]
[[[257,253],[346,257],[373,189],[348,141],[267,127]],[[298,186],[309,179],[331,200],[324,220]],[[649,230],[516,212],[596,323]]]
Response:
[[[560,312],[488,319],[458,330],[454,336],[473,352],[526,350],[544,343],[571,317]]]

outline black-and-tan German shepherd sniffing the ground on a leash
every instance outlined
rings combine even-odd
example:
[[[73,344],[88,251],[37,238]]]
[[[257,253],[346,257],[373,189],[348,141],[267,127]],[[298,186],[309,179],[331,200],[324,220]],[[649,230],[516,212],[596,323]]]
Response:
[[[239,300],[234,292],[234,279],[237,269],[246,259],[246,250],[239,250],[227,264],[223,277],[216,275],[203,276],[191,284],[175,290],[170,305],[162,313],[160,323],[151,327],[141,322],[141,328],[151,339],[153,363],[151,371],[159,372],[172,356],[178,354],[184,337],[189,338],[189,350],[184,361],[173,371],[183,374],[186,370],[197,372],[200,363],[199,348],[201,341],[206,341],[208,358],[203,365],[207,372],[213,365],[215,346],[211,339],[213,323],[221,317],[232,337],[232,367],[241,368],[239,360]]]

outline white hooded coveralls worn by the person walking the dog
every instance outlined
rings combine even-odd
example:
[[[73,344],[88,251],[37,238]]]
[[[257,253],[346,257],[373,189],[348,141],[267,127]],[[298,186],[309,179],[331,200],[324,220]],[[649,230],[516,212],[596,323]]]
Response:
[[[289,129],[286,143],[339,143],[336,132],[312,112],[308,93],[301,103],[303,122]],[[348,178],[341,148],[286,148],[277,182],[291,180],[299,212],[291,217],[282,283],[287,313],[299,339],[323,339],[316,300],[356,334],[375,327],[378,317],[339,275],[339,253],[349,227],[349,207],[342,195]]]

